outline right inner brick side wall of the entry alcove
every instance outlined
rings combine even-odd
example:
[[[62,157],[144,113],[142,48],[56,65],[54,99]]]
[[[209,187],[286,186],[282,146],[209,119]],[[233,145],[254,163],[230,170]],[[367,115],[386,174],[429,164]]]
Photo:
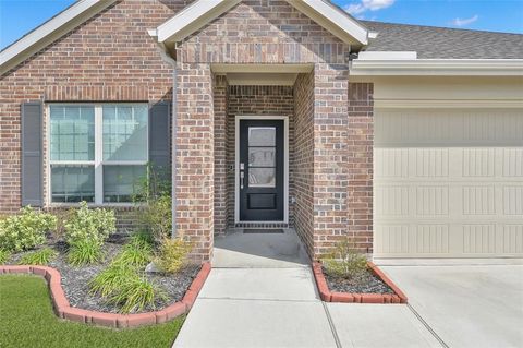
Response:
[[[314,254],[314,72],[294,84],[294,226],[309,255]]]

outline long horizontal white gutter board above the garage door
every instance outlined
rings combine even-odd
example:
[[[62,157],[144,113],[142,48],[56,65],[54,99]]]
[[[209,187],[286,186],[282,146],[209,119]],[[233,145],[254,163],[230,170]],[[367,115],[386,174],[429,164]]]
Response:
[[[523,59],[360,60],[353,76],[523,76]]]

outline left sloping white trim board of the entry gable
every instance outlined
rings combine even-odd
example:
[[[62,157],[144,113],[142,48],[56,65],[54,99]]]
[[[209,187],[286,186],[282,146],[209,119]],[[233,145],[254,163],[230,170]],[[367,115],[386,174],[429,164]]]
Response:
[[[158,43],[181,41],[236,5],[240,0],[198,0],[157,28]]]

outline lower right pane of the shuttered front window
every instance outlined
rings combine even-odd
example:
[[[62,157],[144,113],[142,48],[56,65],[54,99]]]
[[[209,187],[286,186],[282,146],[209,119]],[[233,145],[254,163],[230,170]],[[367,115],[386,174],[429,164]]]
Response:
[[[104,166],[104,202],[133,202],[146,173],[146,166]]]

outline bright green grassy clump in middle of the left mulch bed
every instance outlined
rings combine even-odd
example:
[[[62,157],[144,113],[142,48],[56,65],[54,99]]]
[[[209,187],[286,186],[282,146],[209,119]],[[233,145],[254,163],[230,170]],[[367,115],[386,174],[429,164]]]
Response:
[[[90,291],[101,297],[114,296],[121,291],[126,281],[136,279],[136,269],[123,264],[111,264],[89,281]]]

